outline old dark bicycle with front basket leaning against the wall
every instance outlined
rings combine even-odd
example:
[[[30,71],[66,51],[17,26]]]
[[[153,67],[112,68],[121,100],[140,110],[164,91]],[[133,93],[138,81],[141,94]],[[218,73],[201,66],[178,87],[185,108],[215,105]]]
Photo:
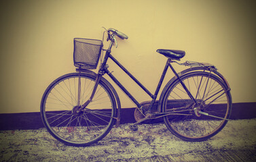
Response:
[[[65,74],[54,80],[46,88],[41,99],[41,118],[45,128],[54,138],[72,146],[89,146],[103,139],[120,124],[121,103],[113,86],[103,76],[107,74],[136,105],[132,130],[148,119],[164,118],[164,124],[172,134],[187,141],[202,141],[215,136],[230,120],[232,97],[227,80],[210,63],[185,61],[185,51],[158,49],[167,57],[166,65],[154,94],[149,92],[124,66],[111,55],[113,45],[117,47],[116,36],[128,36],[109,28],[108,49],[103,49],[103,41],[74,38],[75,73]],[[103,57],[103,52],[106,51]],[[102,53],[102,54],[101,54]],[[92,72],[98,65],[98,73]],[[148,95],[151,101],[139,103],[132,94],[109,72],[107,65],[111,59]],[[177,73],[172,63],[189,66]],[[175,76],[168,81],[159,101],[156,101],[160,87],[170,68]]]

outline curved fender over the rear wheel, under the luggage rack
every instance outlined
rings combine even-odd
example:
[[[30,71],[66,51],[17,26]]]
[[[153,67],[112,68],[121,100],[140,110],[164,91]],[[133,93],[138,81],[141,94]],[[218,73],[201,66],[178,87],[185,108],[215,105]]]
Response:
[[[186,70],[183,70],[181,72],[178,73],[178,76],[181,77],[189,72],[197,72],[197,71],[208,71],[208,72],[213,72],[215,75],[219,76],[219,78],[221,78],[221,80],[223,80],[223,82],[225,83],[225,85],[227,86],[228,89],[230,89],[230,84],[228,84],[227,80],[224,78],[223,75],[221,75],[219,72],[217,72],[217,68],[215,67],[207,67],[207,66],[200,66],[200,67],[193,67],[193,68],[188,68]],[[212,74],[213,74],[212,73]],[[173,78],[171,78],[166,86],[164,86],[164,89],[162,90],[162,93],[160,95],[160,99],[159,99],[159,103],[158,103],[158,111],[162,112],[162,103],[164,100],[164,94],[166,93],[166,90],[168,89],[168,87],[172,84],[172,82],[175,82],[175,80],[177,80],[177,76],[174,76]]]

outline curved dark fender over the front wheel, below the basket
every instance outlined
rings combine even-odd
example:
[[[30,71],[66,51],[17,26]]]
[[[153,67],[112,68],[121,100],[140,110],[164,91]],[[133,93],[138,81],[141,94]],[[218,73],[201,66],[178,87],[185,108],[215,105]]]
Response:
[[[92,72],[90,70],[86,70],[86,69],[76,69],[77,72],[83,72],[86,74],[89,74],[91,76],[97,76],[97,74],[95,72]],[[120,124],[120,118],[121,118],[121,102],[120,102],[120,98],[118,97],[117,92],[115,91],[115,88],[113,88],[113,86],[109,83],[109,81],[107,81],[105,78],[101,77],[100,80],[102,80],[103,82],[105,82],[105,84],[107,84],[107,86],[109,86],[110,90],[113,92],[114,97],[115,97],[115,102],[117,103],[117,122],[115,124],[116,127],[119,126]]]

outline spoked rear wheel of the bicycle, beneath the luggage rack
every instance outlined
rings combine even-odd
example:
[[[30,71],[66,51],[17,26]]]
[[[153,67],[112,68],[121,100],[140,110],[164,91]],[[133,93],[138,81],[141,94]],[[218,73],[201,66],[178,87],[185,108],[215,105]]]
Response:
[[[191,72],[181,80],[195,101],[175,80],[164,96],[166,127],[175,136],[187,141],[202,141],[215,136],[227,124],[232,97],[223,81],[208,72]]]

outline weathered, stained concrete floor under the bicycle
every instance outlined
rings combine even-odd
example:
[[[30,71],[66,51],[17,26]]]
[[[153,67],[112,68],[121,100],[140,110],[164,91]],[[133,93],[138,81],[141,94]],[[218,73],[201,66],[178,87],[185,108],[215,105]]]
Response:
[[[97,144],[67,146],[43,128],[0,131],[0,161],[256,161],[256,119],[240,119],[204,142],[185,142],[164,124],[113,128]]]

